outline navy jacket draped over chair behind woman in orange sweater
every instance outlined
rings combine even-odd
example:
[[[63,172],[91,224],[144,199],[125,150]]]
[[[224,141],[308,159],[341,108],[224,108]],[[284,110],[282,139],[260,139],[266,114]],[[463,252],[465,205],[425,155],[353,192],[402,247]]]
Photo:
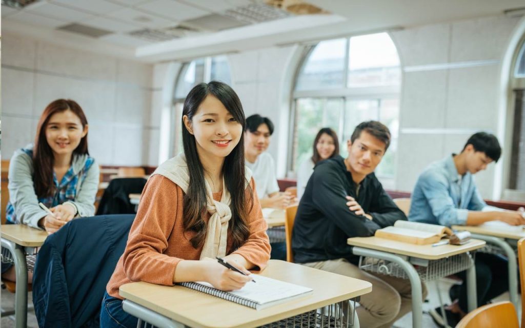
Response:
[[[106,284],[124,252],[134,217],[79,218],[47,237],[33,273],[40,328],[99,327]]]

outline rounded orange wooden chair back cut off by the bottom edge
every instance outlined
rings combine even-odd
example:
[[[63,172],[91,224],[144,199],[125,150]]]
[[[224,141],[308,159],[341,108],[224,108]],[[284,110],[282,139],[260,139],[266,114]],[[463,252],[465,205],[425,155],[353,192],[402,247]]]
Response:
[[[511,302],[498,302],[480,306],[468,313],[456,328],[506,327],[519,328],[518,315]]]

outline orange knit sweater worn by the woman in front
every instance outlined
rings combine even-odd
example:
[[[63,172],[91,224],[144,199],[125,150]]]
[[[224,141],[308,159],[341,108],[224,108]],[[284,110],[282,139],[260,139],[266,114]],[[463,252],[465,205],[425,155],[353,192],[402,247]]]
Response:
[[[268,225],[262,217],[259,198],[252,178],[254,206],[249,211],[250,235],[243,246],[233,253],[243,256],[260,270],[270,258],[270,242],[266,235]],[[246,193],[249,195],[248,189]],[[222,192],[213,194],[220,200]],[[133,281],[146,281],[162,285],[173,285],[177,264],[181,260],[198,260],[202,247],[193,248],[192,231],[184,231],[182,220],[181,187],[162,175],[153,175],[146,183],[140,199],[137,217],[131,226],[128,244],[107,285],[112,297],[121,298],[119,287]],[[247,197],[247,199],[249,199]],[[209,219],[207,213],[205,221]],[[232,247],[228,234],[226,253]]]

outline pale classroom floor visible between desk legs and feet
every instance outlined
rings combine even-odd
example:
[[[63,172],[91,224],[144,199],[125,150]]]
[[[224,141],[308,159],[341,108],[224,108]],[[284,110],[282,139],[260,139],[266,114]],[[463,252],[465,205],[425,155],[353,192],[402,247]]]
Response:
[[[450,285],[454,283],[454,281],[449,279],[440,279],[439,280],[439,290],[440,293],[444,299],[445,303],[449,303],[450,299],[448,297],[448,289],[450,288]],[[437,326],[432,321],[432,318],[430,318],[430,315],[428,315],[426,312],[430,309],[434,309],[439,305],[439,298],[436,290],[436,284],[434,282],[430,283],[428,286],[429,289],[429,295],[428,295],[428,301],[423,303],[423,311],[425,312],[423,314],[423,327],[425,328],[436,328]],[[15,297],[14,294],[7,292],[6,290],[1,291],[1,303],[2,303],[2,309],[3,310],[12,310],[14,308],[14,302]],[[495,301],[505,301],[509,300],[508,293],[505,293],[501,295],[499,298],[495,299]],[[28,304],[30,306],[33,305],[33,300],[31,298],[31,293],[29,293],[28,297]],[[521,305],[519,305],[518,309],[518,318],[521,318]],[[14,327],[14,320],[12,318],[2,318],[2,322],[0,324],[0,327],[2,328],[11,328]],[[36,321],[35,313],[33,311],[29,311],[27,315],[27,326],[29,328],[37,328],[38,323]],[[412,314],[408,313],[403,318],[398,320],[394,324],[395,328],[411,328],[412,327]],[[366,327],[363,327],[366,328]]]

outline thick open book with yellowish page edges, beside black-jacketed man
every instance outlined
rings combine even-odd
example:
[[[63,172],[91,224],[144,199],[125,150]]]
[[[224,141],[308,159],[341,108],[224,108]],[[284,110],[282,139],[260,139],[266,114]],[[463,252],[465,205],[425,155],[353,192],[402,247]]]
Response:
[[[416,245],[434,244],[443,237],[450,237],[450,228],[426,223],[397,220],[394,226],[375,231],[375,237],[409,242]]]

